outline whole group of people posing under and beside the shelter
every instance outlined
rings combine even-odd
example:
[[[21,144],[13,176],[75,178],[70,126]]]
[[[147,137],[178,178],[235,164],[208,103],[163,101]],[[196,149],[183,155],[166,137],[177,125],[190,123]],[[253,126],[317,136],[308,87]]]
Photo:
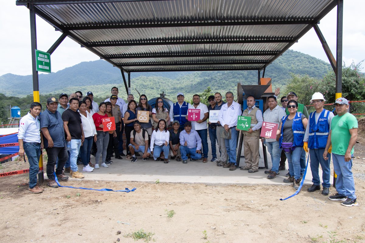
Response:
[[[23,156],[25,152],[30,161],[29,191],[43,191],[38,187],[35,177],[43,148],[48,155],[48,185],[58,187],[54,172],[57,179],[61,180],[68,179],[65,172],[70,172],[72,178],[84,178],[78,170],[78,161],[83,164],[82,171],[91,172],[100,167],[107,168],[112,163],[113,153],[115,158],[122,159],[125,156],[131,162],[137,161],[139,153],[142,154],[142,160],[153,157],[166,164],[170,161],[169,156],[184,164],[187,164],[188,158],[190,161],[208,162],[208,133],[212,151],[210,161],[230,171],[237,169],[237,138],[238,133],[241,133],[245,166],[240,169],[255,173],[258,172],[260,129],[263,122],[270,122],[278,125],[276,139],[261,137],[272,160],[272,168],[265,171],[268,179],[274,179],[279,171],[285,170],[287,158],[289,172],[284,182],[293,183],[293,187],[298,189],[306,169],[306,152],[309,151],[313,185],[308,191],[320,189],[320,164],[323,171],[322,194],[328,195],[332,154],[338,193],[329,198],[343,200],[342,204],[346,206],[357,205],[351,172],[357,120],[347,112],[348,101],[345,98],[336,100],[337,115],[334,116],[323,108],[326,101],[323,95],[315,93],[311,102],[316,111],[308,114],[306,106],[297,103],[298,97],[294,92],[282,97],[282,106],[279,106],[279,92],[280,89],[277,89],[275,95],[267,98],[268,109],[264,113],[255,106],[255,97],[251,95],[246,96],[247,108],[242,111],[241,105],[234,101],[232,92],[225,94],[226,102],[218,92],[209,96],[208,106],[200,102],[198,94],[193,95],[193,104],[190,104],[184,101],[183,93],[178,93],[177,102],[170,107],[170,111],[164,107],[162,98],[157,98],[155,107],[151,107],[144,94],[139,97],[138,103],[129,94],[126,103],[118,97],[117,87],[113,87],[110,98],[99,105],[93,101],[91,91],[83,99],[81,91],[69,96],[62,93],[58,100],[50,97],[47,99],[47,109],[41,115],[42,105],[34,102],[30,112],[21,119],[18,134],[19,155]],[[189,109],[200,110],[197,121],[190,121]],[[147,122],[138,120],[139,110],[147,111]],[[217,122],[207,122],[211,110],[217,111]],[[240,115],[251,118],[247,131],[237,129]],[[115,118],[115,130],[105,132],[102,119],[108,117]],[[169,125],[172,126],[170,130]],[[123,132],[127,141],[126,154],[123,153]],[[342,140],[336,139],[340,136]],[[95,154],[95,165],[90,162],[90,154]]]

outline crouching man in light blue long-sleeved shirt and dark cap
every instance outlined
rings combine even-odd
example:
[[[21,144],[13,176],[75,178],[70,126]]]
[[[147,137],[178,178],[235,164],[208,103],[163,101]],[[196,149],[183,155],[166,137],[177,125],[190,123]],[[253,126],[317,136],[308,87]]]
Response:
[[[188,156],[190,154],[190,161],[199,160],[201,158],[201,138],[199,134],[191,129],[191,122],[187,121],[184,124],[184,130],[180,132],[180,153],[183,159],[183,164],[188,163]]]

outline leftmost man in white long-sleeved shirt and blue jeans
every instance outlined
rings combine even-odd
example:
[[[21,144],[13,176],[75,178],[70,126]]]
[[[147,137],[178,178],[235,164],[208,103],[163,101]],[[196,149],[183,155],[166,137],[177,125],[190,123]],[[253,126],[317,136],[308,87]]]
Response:
[[[22,159],[24,153],[27,154],[29,162],[29,189],[30,193],[41,193],[43,188],[37,185],[37,175],[39,171],[39,157],[43,149],[43,138],[41,136],[41,125],[38,115],[42,111],[39,102],[30,105],[30,111],[19,122],[19,157]]]

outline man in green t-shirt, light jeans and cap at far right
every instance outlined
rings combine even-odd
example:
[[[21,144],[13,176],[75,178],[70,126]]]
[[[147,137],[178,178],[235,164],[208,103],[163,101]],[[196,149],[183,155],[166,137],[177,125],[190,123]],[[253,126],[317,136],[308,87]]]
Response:
[[[345,98],[336,99],[335,109],[337,115],[331,121],[331,130],[323,158],[327,159],[328,148],[332,144],[333,168],[337,174],[337,194],[328,198],[334,201],[343,201],[341,205],[346,207],[357,206],[354,176],[351,171],[351,154],[354,153],[357,139],[357,119],[347,112],[349,102]]]

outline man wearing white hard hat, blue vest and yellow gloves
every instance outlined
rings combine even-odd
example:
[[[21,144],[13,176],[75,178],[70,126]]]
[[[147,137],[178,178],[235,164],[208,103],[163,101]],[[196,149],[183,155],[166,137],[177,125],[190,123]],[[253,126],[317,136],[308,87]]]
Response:
[[[314,105],[316,111],[313,111],[308,117],[308,124],[306,133],[304,135],[303,148],[306,152],[309,149],[309,155],[311,158],[311,171],[312,171],[312,185],[307,189],[308,192],[315,192],[320,190],[320,178],[319,178],[319,164],[322,167],[322,195],[327,196],[329,193],[330,183],[330,160],[331,156],[328,156],[327,160],[323,158],[323,152],[327,145],[328,134],[330,133],[331,120],[334,114],[331,111],[323,109],[324,102],[326,100],[323,94],[316,92],[312,95],[311,103]],[[331,153],[331,147],[327,149],[328,153]]]

